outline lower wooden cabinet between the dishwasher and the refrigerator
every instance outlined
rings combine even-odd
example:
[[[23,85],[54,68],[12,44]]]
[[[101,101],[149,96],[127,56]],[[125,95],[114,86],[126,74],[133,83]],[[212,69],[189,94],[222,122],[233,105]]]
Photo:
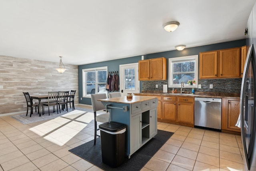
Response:
[[[236,127],[240,113],[240,98],[222,98],[222,124],[221,129],[240,132]]]

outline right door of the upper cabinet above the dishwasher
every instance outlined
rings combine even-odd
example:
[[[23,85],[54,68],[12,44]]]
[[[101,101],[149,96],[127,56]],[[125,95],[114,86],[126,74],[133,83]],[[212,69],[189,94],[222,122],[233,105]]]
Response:
[[[239,78],[240,59],[240,48],[220,50],[220,78]]]

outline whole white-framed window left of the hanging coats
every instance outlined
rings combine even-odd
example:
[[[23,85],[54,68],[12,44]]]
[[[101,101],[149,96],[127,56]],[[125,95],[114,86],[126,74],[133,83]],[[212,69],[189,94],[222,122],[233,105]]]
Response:
[[[89,68],[82,70],[83,97],[90,97],[91,94],[107,93],[107,70],[108,67]]]

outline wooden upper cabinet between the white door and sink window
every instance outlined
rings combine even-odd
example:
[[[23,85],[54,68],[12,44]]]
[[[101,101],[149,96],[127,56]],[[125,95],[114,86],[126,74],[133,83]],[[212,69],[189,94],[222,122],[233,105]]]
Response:
[[[139,61],[139,80],[166,80],[166,58]]]

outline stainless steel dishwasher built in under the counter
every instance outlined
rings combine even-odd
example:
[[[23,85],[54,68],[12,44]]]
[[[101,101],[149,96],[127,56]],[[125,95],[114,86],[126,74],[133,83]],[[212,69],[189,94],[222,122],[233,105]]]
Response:
[[[195,97],[195,127],[221,131],[221,99]]]

